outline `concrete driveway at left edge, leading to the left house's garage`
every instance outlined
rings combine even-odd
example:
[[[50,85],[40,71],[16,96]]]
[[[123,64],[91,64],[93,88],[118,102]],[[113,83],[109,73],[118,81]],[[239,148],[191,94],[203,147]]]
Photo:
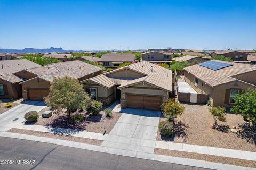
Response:
[[[47,105],[44,101],[23,101],[20,105],[13,107],[0,115],[0,131],[7,131],[15,125],[25,121],[24,115],[29,111],[41,111]]]

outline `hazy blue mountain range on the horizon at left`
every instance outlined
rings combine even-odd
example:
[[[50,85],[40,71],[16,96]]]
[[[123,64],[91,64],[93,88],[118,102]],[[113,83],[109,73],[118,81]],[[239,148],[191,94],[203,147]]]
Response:
[[[51,53],[51,52],[58,52],[58,53],[65,53],[65,52],[79,52],[81,50],[64,50],[62,48],[24,48],[24,49],[4,49],[0,48],[0,53]]]

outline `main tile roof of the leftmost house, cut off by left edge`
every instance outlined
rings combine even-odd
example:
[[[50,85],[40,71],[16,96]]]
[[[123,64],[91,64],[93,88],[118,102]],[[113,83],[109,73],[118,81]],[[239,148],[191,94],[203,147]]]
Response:
[[[11,74],[24,69],[41,66],[27,59],[0,61],[0,75]]]

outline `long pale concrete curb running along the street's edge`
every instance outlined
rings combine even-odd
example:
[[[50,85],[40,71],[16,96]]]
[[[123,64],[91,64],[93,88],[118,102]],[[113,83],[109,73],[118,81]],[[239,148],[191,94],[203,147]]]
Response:
[[[60,140],[60,139],[36,137],[33,135],[27,135],[27,134],[0,132],[0,137],[53,143],[61,146],[106,152],[108,154],[122,155],[127,157],[134,157],[134,158],[141,158],[141,159],[148,159],[148,160],[156,160],[160,162],[167,162],[167,163],[174,163],[174,164],[181,164],[181,165],[188,165],[188,166],[195,166],[195,167],[202,167],[202,168],[219,169],[219,170],[252,170],[254,169],[254,168],[247,168],[242,166],[206,162],[203,160],[171,157],[171,156],[165,156],[165,155],[149,154],[149,153],[139,152],[139,151],[129,151],[129,150],[115,149],[115,148],[109,148],[109,147],[103,147],[103,146],[95,146],[95,145],[90,145],[86,143],[79,143],[79,142],[66,141],[66,140]]]

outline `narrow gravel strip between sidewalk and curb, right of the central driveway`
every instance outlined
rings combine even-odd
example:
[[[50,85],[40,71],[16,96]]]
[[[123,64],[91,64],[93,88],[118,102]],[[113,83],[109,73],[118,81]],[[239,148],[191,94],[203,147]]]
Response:
[[[189,158],[189,159],[198,159],[198,160],[205,160],[205,161],[215,162],[215,163],[256,168],[256,162],[254,162],[252,160],[228,158],[228,157],[205,155],[205,154],[196,154],[196,153],[191,153],[191,152],[166,150],[166,149],[158,149],[158,148],[155,148],[154,154],[167,155],[167,156],[173,156],[173,157],[181,157],[181,158]]]

